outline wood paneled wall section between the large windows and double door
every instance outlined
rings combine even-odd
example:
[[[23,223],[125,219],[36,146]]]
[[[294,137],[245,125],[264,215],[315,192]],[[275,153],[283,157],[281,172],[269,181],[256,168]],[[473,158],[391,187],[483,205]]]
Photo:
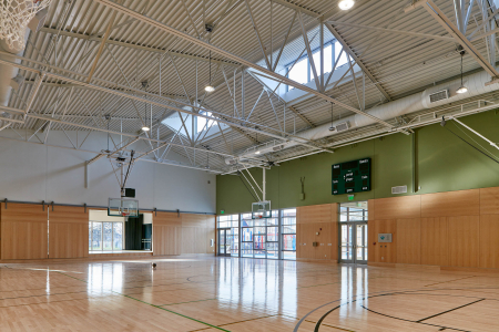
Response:
[[[318,246],[313,247],[313,242]],[[337,260],[338,205],[296,208],[296,243],[297,259]]]

